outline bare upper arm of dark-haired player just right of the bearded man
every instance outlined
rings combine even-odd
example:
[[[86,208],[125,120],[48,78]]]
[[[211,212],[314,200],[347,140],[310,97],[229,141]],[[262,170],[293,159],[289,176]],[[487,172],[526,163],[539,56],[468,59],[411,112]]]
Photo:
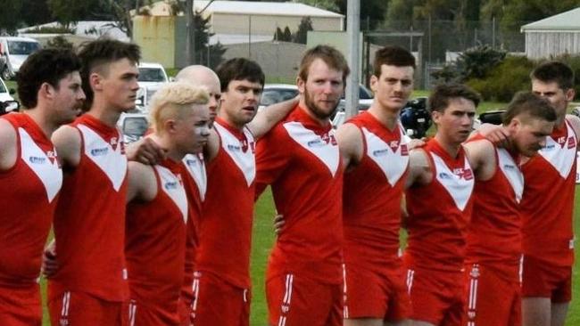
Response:
[[[338,142],[340,155],[343,159],[344,170],[349,171],[356,167],[364,152],[364,143],[359,127],[352,123],[339,126],[336,130],[336,142]]]

